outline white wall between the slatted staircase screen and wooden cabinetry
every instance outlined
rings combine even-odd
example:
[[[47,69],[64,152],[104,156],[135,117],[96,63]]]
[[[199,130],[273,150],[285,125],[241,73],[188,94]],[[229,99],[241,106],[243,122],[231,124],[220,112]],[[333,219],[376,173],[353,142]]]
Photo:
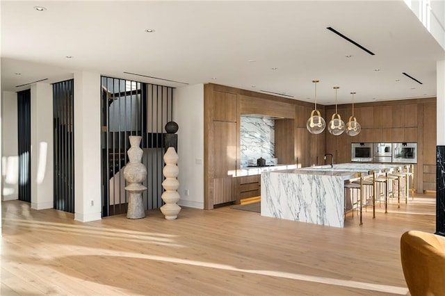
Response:
[[[204,85],[175,88],[173,120],[179,125],[179,206],[204,208]],[[189,195],[186,195],[188,190]]]

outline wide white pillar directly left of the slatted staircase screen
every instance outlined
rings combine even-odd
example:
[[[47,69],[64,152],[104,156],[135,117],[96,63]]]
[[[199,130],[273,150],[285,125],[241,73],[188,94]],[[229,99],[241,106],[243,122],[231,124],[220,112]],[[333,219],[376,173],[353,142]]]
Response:
[[[74,220],[100,220],[100,75],[74,73]]]

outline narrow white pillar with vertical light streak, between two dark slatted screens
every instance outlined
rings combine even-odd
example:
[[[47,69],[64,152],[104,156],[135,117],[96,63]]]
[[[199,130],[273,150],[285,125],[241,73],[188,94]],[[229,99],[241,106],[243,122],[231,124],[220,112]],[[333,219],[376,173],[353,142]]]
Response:
[[[31,85],[31,208],[54,206],[53,88]]]

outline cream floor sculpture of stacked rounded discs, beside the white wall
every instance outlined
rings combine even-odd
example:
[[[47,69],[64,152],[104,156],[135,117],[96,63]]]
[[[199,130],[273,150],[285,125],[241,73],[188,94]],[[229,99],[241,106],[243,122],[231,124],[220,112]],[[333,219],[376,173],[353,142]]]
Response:
[[[161,206],[161,212],[165,215],[167,220],[175,220],[178,217],[181,207],[176,203],[179,201],[179,193],[177,189],[179,188],[179,181],[176,179],[179,173],[179,168],[177,167],[178,155],[175,148],[168,147],[167,152],[164,154],[165,167],[162,172],[165,176],[165,180],[162,182],[162,186],[165,192],[161,195],[161,198],[165,202]]]

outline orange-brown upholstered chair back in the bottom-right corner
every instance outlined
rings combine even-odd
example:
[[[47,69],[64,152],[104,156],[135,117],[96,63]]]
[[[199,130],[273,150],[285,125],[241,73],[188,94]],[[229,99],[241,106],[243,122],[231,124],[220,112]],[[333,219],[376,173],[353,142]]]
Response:
[[[401,260],[412,296],[445,295],[445,237],[423,231],[403,233]]]

